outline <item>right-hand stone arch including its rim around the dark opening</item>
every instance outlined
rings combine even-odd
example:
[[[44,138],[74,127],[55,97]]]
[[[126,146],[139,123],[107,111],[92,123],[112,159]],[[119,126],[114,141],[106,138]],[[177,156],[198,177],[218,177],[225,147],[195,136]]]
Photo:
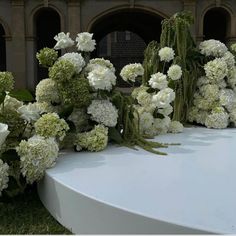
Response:
[[[200,23],[202,39],[214,38],[227,43],[233,35],[233,12],[225,4],[208,6],[202,13]]]

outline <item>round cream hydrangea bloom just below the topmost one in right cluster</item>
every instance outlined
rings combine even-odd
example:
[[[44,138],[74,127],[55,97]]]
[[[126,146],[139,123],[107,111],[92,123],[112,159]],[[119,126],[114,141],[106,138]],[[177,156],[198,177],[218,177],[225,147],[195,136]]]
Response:
[[[207,78],[212,83],[219,83],[228,74],[226,62],[222,58],[216,58],[204,65]]]

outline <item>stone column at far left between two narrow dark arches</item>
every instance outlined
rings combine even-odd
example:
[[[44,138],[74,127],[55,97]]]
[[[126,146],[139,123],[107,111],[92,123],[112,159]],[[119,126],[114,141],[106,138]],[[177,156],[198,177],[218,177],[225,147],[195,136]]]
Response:
[[[13,72],[16,88],[26,88],[26,52],[24,0],[12,0],[12,61],[8,69]]]

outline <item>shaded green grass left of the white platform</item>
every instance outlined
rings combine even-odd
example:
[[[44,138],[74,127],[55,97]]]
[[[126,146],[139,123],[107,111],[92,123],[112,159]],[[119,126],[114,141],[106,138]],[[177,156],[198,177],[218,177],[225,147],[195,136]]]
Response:
[[[15,198],[0,198],[0,234],[72,234],[45,209],[36,188]]]

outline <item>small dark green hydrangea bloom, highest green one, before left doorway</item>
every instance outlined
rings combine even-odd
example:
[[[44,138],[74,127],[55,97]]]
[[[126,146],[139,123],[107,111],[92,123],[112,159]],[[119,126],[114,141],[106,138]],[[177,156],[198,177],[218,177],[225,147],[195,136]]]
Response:
[[[58,52],[52,48],[43,48],[37,54],[39,64],[44,67],[51,67],[58,58]]]

